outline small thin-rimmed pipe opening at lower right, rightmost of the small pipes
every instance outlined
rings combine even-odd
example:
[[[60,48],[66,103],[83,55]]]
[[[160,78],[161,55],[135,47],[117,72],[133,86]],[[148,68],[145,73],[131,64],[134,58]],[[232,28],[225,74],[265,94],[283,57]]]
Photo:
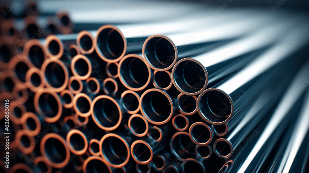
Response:
[[[230,141],[220,138],[214,142],[214,153],[219,158],[229,158],[233,154],[233,146]]]

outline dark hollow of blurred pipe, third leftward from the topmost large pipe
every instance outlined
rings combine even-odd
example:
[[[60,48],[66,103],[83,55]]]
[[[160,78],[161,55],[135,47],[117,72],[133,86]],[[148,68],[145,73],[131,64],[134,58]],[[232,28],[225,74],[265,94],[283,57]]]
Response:
[[[40,46],[31,46],[28,56],[34,66],[36,66],[37,68],[41,68],[41,65],[45,60],[45,55],[43,49]]]

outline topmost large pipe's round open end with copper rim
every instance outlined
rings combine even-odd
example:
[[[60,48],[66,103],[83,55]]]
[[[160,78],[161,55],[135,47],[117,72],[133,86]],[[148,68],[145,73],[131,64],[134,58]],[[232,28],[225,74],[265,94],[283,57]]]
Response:
[[[107,62],[119,61],[126,52],[127,43],[121,31],[112,26],[104,25],[97,31],[96,51]]]

